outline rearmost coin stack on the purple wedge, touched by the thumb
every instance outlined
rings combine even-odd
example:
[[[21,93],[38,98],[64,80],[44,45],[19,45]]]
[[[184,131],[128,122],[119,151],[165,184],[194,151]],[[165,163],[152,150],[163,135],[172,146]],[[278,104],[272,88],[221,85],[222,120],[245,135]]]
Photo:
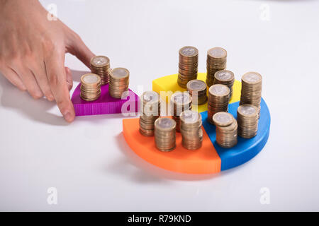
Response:
[[[91,72],[101,77],[101,85],[110,81],[110,59],[104,56],[96,56],[91,59]]]

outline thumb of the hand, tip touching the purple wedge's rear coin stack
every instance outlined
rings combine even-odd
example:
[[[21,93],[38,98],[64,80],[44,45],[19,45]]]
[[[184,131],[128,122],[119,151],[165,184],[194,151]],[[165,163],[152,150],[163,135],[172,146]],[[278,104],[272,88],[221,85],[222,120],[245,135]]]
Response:
[[[67,41],[67,52],[77,57],[77,59],[90,68],[90,61],[94,57],[94,54],[86,47],[81,37],[74,32],[72,32],[72,36]]]

